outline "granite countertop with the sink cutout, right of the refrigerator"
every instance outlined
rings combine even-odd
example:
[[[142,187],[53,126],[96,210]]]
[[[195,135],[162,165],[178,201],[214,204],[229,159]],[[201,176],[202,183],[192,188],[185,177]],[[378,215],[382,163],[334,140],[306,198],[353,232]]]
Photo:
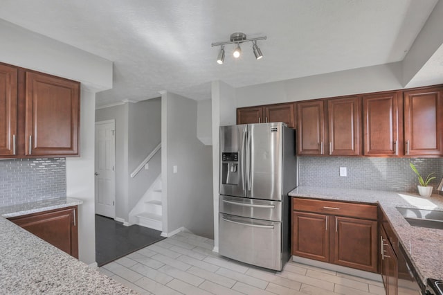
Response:
[[[442,196],[420,197],[413,193],[304,186],[292,190],[289,196],[379,204],[386,213],[424,285],[426,285],[427,278],[443,280],[443,230],[411,226],[396,208],[443,211]]]

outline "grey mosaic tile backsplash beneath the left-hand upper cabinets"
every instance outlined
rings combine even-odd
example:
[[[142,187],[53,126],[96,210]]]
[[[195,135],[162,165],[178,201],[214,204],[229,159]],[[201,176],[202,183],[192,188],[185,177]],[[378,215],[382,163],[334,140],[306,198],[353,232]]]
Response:
[[[0,161],[0,206],[66,197],[66,159]]]

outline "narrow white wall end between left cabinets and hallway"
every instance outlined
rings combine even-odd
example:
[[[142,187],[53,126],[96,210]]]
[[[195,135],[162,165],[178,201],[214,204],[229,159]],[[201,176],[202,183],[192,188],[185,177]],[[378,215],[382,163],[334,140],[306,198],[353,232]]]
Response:
[[[78,208],[78,255],[96,262],[94,136],[96,95],[82,89],[80,101],[80,157],[66,158],[66,195],[81,199]]]

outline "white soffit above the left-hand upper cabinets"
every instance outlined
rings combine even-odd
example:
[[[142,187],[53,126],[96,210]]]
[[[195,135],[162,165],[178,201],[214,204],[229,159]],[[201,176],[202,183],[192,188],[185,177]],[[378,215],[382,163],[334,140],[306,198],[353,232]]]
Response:
[[[112,62],[0,19],[0,62],[82,82],[83,89],[112,88]]]

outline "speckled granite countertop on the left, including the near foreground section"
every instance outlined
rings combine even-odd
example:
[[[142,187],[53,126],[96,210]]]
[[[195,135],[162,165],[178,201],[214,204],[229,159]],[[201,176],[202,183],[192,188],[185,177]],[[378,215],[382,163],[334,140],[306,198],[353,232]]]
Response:
[[[82,204],[71,198],[0,207],[13,217]],[[37,205],[37,207],[33,207]],[[137,294],[0,216],[1,294]]]

